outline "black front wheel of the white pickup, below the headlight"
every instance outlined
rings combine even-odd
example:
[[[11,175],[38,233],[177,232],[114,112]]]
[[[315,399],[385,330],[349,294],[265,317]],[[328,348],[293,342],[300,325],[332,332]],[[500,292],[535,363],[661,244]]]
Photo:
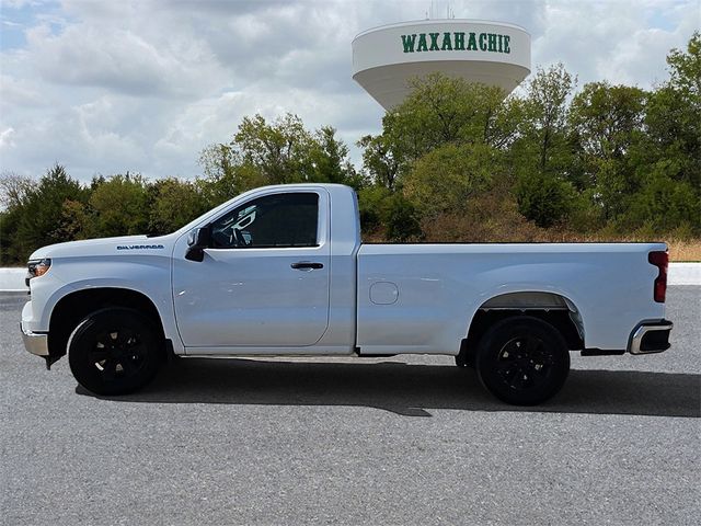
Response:
[[[135,310],[93,312],[73,331],[68,344],[70,370],[96,395],[126,395],[146,386],[163,361],[163,339]]]

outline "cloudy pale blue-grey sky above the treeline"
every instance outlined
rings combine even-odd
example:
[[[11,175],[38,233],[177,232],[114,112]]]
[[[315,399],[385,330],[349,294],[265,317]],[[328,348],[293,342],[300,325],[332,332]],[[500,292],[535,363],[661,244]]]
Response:
[[[350,42],[444,13],[441,0],[0,0],[0,173],[54,163],[94,175],[202,174],[204,147],[243,116],[299,115],[352,148],[383,110],[352,79]],[[450,1],[456,19],[531,34],[531,70],[653,88],[670,48],[701,26],[701,0]],[[438,18],[438,16],[434,16]]]

